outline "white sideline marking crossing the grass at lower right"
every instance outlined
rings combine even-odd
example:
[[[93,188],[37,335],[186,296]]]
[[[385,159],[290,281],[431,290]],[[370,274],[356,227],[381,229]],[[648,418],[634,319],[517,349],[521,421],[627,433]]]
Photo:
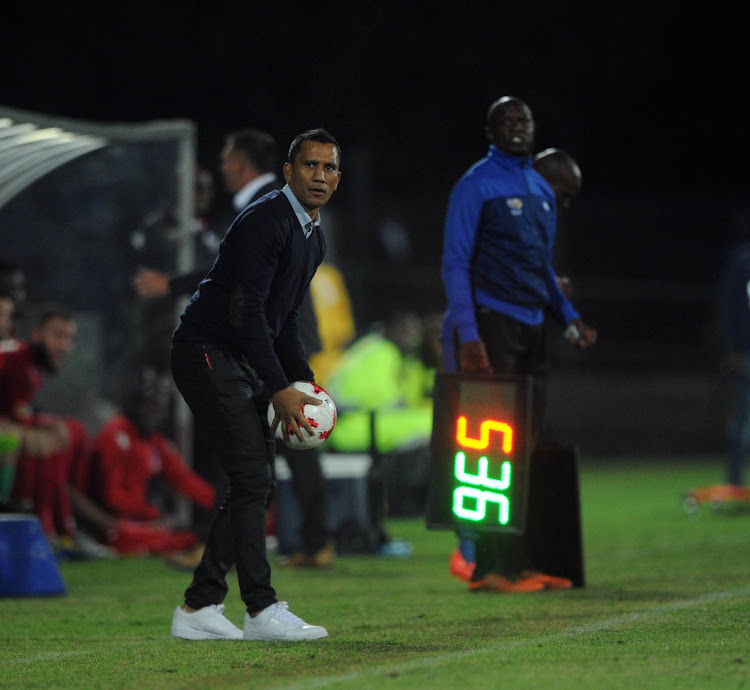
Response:
[[[710,604],[712,602],[720,601],[721,599],[731,599],[737,596],[750,595],[750,587],[741,587],[740,589],[728,590],[726,592],[713,592],[696,599],[685,599],[682,601],[673,601],[669,604],[663,604],[657,606],[648,611],[640,611],[636,613],[628,613],[616,618],[610,618],[609,620],[598,621],[590,623],[588,625],[576,625],[572,628],[560,630],[556,633],[550,633],[549,635],[540,635],[538,637],[532,637],[525,640],[516,640],[514,642],[500,643],[491,647],[485,647],[482,649],[472,649],[463,652],[449,652],[447,654],[432,655],[427,658],[407,661],[403,664],[393,664],[378,666],[377,668],[367,669],[365,671],[354,671],[351,673],[344,673],[341,675],[328,676],[323,678],[316,678],[315,680],[303,681],[294,683],[292,685],[284,686],[287,690],[306,690],[307,688],[323,688],[339,683],[351,683],[352,681],[360,680],[363,678],[372,678],[380,675],[400,673],[404,671],[411,671],[419,668],[427,668],[430,666],[439,666],[441,664],[465,659],[472,656],[481,656],[484,654],[496,654],[497,652],[519,649],[521,647],[528,647],[529,645],[536,646],[542,642],[552,642],[562,637],[573,637],[575,635],[588,635],[602,630],[608,630],[618,625],[627,625],[629,623],[638,623],[648,618],[654,618],[655,616],[661,615],[665,611],[675,611],[679,609],[692,608],[694,606],[701,606],[703,604]]]

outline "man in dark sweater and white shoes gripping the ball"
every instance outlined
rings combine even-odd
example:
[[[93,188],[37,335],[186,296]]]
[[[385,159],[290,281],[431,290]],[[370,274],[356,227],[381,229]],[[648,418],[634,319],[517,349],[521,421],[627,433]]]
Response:
[[[325,256],[319,212],[338,188],[340,160],[326,130],[295,137],[283,168],[287,184],[237,216],[175,329],[172,375],[216,448],[229,493],[185,602],[175,609],[174,637],[291,641],[328,635],[277,599],[266,556],[266,511],[274,488],[275,426],[290,427],[302,443],[313,433],[302,407],[319,400],[291,383],[314,380],[299,306]],[[277,415],[271,427],[269,400]],[[233,564],[247,607],[242,630],[222,614]]]

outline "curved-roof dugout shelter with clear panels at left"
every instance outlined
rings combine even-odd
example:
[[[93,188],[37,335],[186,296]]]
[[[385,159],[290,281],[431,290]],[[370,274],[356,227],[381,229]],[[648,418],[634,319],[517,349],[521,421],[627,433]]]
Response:
[[[188,120],[102,124],[0,106],[0,258],[23,268],[28,288],[18,334],[48,300],[74,310],[76,348],[40,402],[92,433],[120,402],[134,358],[166,347],[176,325],[182,304],[146,304],[130,281],[140,265],[193,268],[195,167]],[[175,398],[175,437],[190,458]]]

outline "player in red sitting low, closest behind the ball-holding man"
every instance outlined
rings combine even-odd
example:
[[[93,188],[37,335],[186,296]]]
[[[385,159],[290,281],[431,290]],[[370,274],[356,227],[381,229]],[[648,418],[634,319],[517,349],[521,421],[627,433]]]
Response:
[[[169,375],[148,365],[132,372],[122,413],[94,439],[83,490],[71,492],[81,524],[121,555],[165,554],[198,543],[169,512],[174,491],[206,509],[214,502],[213,487],[158,431],[170,387]]]

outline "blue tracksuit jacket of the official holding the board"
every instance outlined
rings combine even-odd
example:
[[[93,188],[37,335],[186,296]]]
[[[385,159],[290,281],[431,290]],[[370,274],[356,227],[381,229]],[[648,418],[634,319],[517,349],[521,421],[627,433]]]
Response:
[[[451,192],[442,277],[448,307],[442,339],[479,340],[475,309],[489,307],[530,325],[549,309],[562,324],[580,318],[552,268],[555,195],[531,165],[490,146]]]

